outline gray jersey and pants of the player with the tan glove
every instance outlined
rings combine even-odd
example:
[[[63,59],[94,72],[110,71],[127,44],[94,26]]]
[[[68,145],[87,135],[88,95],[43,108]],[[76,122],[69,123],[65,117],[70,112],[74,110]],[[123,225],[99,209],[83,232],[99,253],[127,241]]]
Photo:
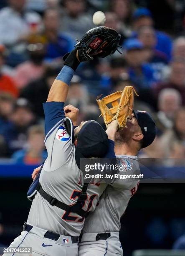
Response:
[[[119,241],[120,218],[124,214],[130,198],[137,191],[138,179],[120,179],[121,175],[140,174],[137,156],[117,156],[120,164],[126,166],[119,178],[109,184],[99,200],[94,212],[86,219],[79,244],[79,256],[123,256]],[[97,240],[99,233],[110,233],[104,240]]]

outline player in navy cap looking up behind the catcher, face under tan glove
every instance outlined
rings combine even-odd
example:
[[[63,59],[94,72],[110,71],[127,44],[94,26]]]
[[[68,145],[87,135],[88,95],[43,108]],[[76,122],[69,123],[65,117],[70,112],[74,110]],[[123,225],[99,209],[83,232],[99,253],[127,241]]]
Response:
[[[117,159],[127,166],[124,172],[119,171],[120,175],[140,173],[137,153],[152,143],[155,133],[155,123],[148,113],[136,111],[132,114],[127,126],[117,133],[115,140]],[[123,255],[119,241],[120,218],[138,185],[138,179],[118,178],[106,187],[95,211],[86,218],[79,256]]]

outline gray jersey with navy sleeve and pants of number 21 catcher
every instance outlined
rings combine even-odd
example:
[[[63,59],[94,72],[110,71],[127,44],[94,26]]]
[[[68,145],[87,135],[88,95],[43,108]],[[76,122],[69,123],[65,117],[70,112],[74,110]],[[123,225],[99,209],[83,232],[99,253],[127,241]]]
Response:
[[[75,146],[66,131],[64,124],[63,102],[47,102],[45,111],[45,146],[48,151],[40,175],[44,191],[59,201],[72,205],[81,194],[83,174],[75,161]],[[83,210],[93,211],[106,184],[92,181],[87,189],[87,199]],[[84,225],[84,218],[73,213],[51,206],[38,192],[33,199],[27,224],[30,231],[23,231],[11,243],[10,247],[32,247],[33,256],[77,256],[78,244],[73,243],[71,236],[79,236]],[[46,238],[47,231],[60,234],[57,241]],[[19,255],[19,254],[14,254]],[[24,255],[24,254],[23,254]]]

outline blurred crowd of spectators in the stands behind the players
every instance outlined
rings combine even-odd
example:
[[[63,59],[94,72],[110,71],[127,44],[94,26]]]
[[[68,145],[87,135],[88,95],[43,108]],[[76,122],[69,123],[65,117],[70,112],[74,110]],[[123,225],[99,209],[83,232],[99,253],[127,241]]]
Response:
[[[151,113],[157,137],[140,157],[185,159],[185,3],[183,0],[1,0],[0,1],[0,158],[40,164],[42,103],[62,56],[91,28],[102,10],[104,26],[122,35],[119,51],[82,63],[66,104],[79,108],[79,122],[97,120],[96,97],[133,85],[134,108]]]

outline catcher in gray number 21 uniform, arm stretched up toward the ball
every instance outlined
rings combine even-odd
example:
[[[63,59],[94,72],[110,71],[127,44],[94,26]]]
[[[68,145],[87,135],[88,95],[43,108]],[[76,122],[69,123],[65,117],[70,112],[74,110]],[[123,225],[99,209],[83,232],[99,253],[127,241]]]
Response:
[[[76,54],[76,50],[72,51],[72,59],[79,62]],[[108,138],[114,140],[117,131],[117,128],[114,129],[112,134],[111,129],[109,136],[109,128],[105,133],[101,125],[95,121],[82,122],[74,129],[74,135],[78,136],[78,146],[75,149],[72,141],[73,129],[68,132],[66,120],[70,127],[72,123],[64,113],[64,102],[73,74],[74,70],[64,65],[53,82],[47,102],[43,104],[46,130],[44,143],[48,158],[43,165],[39,177],[40,186],[34,196],[23,232],[10,244],[10,247],[16,248],[32,247],[33,256],[77,256],[78,237],[84,225],[86,212],[95,209],[100,195],[106,188],[106,184],[89,184],[82,209],[71,212],[68,210],[70,205],[76,205],[83,188],[79,158],[102,157],[107,151]],[[73,106],[67,106],[65,111],[73,121],[76,120],[77,111]]]

